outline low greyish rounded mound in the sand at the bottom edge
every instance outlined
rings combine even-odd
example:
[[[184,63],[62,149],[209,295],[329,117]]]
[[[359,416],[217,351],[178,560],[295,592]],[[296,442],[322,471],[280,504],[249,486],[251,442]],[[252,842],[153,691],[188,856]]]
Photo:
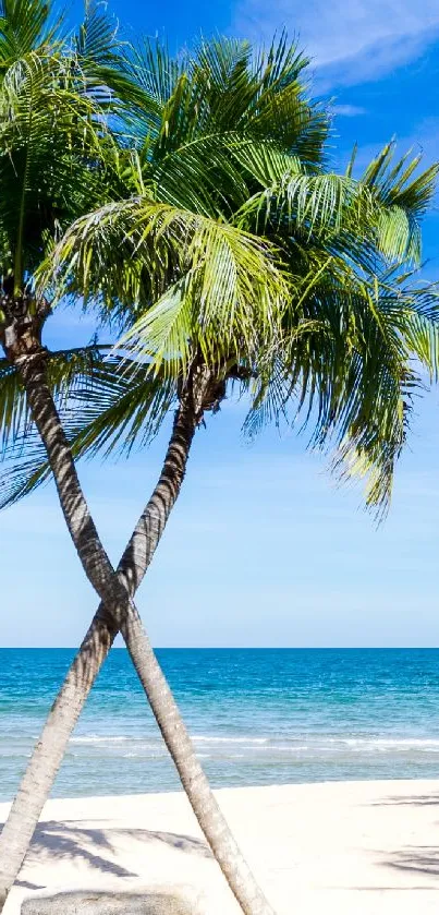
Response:
[[[22,915],[197,915],[184,899],[164,893],[70,892],[22,903]]]

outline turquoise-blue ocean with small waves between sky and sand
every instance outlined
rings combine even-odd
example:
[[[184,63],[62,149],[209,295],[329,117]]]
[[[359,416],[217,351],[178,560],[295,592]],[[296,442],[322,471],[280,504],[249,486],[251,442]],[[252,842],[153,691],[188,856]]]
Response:
[[[216,787],[439,778],[439,649],[161,649]],[[19,785],[73,657],[0,650],[0,800]],[[124,650],[114,650],[52,795],[172,791],[179,781]]]

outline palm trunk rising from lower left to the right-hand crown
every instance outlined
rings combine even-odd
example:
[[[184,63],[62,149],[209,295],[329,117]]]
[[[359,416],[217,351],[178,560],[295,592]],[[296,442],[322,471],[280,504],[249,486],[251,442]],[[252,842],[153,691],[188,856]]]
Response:
[[[131,597],[153,559],[180,493],[194,430],[187,410],[180,407],[160,478],[118,566]],[[69,738],[117,634],[118,625],[102,601],[50,710],[0,834],[0,912],[23,864]]]

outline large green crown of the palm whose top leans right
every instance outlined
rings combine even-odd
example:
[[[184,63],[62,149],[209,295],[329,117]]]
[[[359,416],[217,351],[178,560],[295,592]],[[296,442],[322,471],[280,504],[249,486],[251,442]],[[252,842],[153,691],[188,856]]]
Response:
[[[436,289],[415,270],[438,167],[389,144],[358,178],[354,156],[332,172],[306,64],[286,36],[259,55],[230,39],[179,60],[124,50],[135,95],[105,154],[112,180],[33,275],[40,296],[84,297],[121,328],[64,411],[77,456],[147,441],[197,366],[211,377],[199,419],[230,384],[249,396],[249,434],[304,410],[312,443],[387,505],[417,366],[437,369]],[[27,444],[4,501],[44,477]]]

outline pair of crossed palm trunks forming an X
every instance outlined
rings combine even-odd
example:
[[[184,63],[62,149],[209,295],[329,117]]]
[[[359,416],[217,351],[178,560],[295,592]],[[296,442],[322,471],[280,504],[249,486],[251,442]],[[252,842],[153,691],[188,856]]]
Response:
[[[245,915],[273,915],[211,793],[133,602],[180,493],[191,444],[203,416],[203,392],[194,396],[192,378],[181,395],[159,481],[114,573],[82,492],[47,384],[45,351],[20,357],[15,364],[47,449],[69,531],[101,603],[52,706],[0,838],[0,912],[23,864],[69,737],[115,635],[121,631],[194,814],[235,899]],[[196,406],[199,404],[202,412]]]

